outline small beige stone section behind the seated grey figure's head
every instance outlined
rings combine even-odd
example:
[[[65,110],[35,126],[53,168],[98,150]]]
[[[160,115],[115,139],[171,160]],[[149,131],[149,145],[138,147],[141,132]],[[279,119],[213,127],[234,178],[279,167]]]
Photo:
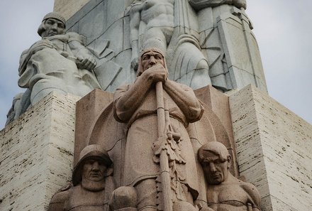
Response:
[[[90,0],[55,0],[54,11],[60,13],[68,20]]]

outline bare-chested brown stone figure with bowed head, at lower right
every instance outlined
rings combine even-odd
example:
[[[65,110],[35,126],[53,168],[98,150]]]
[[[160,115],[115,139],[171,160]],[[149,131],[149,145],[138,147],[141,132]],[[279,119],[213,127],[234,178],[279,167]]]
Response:
[[[260,211],[260,194],[255,185],[235,178],[228,169],[228,149],[217,141],[199,148],[199,162],[207,182],[207,204],[201,211]]]

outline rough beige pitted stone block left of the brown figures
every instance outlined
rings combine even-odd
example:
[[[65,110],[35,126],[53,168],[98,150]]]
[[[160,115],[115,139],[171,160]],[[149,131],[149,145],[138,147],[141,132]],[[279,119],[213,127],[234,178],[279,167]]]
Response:
[[[75,103],[50,93],[0,131],[0,210],[46,210],[72,174]]]

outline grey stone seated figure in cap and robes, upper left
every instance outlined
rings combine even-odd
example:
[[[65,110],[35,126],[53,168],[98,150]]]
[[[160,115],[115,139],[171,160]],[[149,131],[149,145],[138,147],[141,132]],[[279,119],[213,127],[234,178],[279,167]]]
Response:
[[[94,55],[85,47],[83,36],[65,33],[65,18],[48,13],[38,34],[42,40],[22,53],[18,69],[18,85],[31,91],[31,104],[52,91],[84,96],[101,89],[93,72]]]

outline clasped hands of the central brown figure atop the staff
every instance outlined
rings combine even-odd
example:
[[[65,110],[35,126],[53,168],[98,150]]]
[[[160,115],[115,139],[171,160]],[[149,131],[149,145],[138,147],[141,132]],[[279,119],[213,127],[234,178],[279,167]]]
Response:
[[[166,82],[168,79],[168,72],[164,66],[156,64],[143,72],[147,79],[152,80],[152,82]]]

